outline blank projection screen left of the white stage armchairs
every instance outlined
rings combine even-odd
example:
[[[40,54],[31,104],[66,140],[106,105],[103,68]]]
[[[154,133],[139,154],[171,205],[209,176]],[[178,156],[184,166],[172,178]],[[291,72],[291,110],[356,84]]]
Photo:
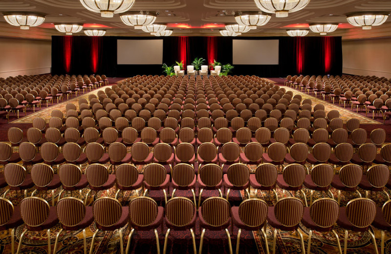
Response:
[[[163,40],[117,40],[117,64],[162,64]]]

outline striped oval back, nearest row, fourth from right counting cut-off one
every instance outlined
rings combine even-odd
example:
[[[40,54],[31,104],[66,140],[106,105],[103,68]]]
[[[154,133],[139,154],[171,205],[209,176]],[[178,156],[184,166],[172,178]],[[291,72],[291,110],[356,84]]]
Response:
[[[285,227],[297,226],[303,218],[304,204],[296,197],[285,197],[277,201],[274,215]]]

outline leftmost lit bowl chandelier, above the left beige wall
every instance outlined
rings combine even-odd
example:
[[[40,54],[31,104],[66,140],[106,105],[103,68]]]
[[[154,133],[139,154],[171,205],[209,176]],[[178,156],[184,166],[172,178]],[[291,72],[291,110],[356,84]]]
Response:
[[[20,26],[23,30],[30,29],[30,26],[38,26],[45,21],[45,16],[33,12],[4,12],[5,21],[10,25]]]

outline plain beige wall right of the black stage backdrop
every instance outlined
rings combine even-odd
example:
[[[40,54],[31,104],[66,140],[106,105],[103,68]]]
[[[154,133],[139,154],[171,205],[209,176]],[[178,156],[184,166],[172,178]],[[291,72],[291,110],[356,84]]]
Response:
[[[391,79],[391,38],[342,41],[343,72]]]

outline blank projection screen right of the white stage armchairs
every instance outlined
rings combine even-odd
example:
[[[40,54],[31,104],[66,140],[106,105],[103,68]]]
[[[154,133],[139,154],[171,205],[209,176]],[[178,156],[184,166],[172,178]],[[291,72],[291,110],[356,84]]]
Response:
[[[233,40],[233,64],[279,64],[279,40]]]

